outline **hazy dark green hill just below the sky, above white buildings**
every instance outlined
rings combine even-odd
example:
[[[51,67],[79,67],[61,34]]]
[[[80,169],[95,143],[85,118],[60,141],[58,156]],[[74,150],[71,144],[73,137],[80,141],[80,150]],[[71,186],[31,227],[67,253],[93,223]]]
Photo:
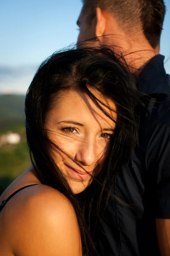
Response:
[[[25,96],[0,95],[0,131],[16,130],[16,126],[24,125]]]

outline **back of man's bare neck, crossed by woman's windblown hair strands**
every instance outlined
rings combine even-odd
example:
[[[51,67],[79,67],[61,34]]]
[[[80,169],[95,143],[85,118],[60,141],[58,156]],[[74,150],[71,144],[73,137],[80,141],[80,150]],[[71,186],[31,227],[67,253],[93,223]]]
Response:
[[[105,31],[102,43],[113,49],[118,54],[118,57],[123,55],[133,73],[140,73],[146,64],[159,54],[159,47],[153,49],[142,32],[137,32],[135,35],[127,35],[119,27],[117,30],[114,27],[117,33],[113,34],[111,28]]]

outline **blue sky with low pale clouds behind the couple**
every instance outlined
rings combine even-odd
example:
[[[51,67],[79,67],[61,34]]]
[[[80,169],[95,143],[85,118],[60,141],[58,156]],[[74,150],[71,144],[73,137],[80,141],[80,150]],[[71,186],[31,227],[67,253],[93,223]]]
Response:
[[[170,0],[161,54],[170,73]],[[75,44],[81,0],[0,0],[0,93],[25,94],[40,63]]]

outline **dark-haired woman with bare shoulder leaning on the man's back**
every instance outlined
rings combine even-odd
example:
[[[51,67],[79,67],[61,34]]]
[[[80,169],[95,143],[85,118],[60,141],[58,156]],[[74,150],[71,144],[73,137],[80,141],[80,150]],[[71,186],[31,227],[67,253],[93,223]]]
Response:
[[[1,255],[97,255],[91,232],[133,151],[136,103],[111,50],[73,49],[41,64],[25,104],[32,166],[0,197]]]

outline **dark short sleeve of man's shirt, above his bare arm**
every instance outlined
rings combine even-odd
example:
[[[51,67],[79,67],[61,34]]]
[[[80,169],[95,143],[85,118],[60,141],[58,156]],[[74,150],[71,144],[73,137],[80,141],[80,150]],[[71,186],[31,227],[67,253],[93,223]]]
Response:
[[[164,121],[152,125],[146,150],[147,174],[154,183],[155,217],[170,219],[170,123]]]

